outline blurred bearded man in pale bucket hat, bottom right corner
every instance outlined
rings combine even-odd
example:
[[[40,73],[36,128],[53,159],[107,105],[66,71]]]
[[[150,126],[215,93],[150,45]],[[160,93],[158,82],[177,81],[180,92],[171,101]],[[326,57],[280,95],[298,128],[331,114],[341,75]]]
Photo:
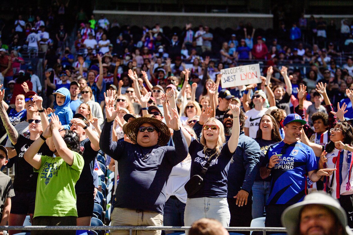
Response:
[[[282,214],[288,235],[353,235],[340,203],[323,192],[310,193]]]

